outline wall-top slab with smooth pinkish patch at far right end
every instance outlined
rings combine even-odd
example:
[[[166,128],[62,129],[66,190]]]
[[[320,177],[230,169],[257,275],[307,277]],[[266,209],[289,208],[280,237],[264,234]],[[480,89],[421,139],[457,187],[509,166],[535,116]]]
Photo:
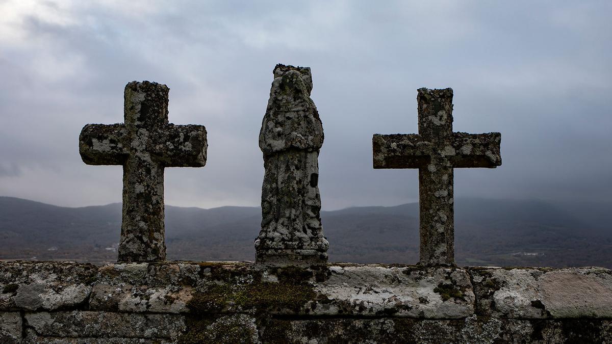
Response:
[[[612,272],[576,269],[471,269],[479,315],[507,318],[612,318]]]

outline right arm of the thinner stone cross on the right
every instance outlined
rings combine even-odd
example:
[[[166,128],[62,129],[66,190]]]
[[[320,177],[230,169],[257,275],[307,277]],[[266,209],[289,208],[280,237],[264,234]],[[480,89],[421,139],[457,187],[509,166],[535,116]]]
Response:
[[[455,156],[450,160],[453,167],[488,167],[501,165],[501,133],[453,133]]]

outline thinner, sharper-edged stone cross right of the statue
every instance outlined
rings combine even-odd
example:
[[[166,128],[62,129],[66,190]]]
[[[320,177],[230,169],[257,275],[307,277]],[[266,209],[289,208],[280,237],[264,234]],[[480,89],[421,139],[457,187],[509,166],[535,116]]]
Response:
[[[453,90],[418,90],[419,134],[375,134],[374,168],[418,168],[420,263],[455,263],[453,168],[501,165],[500,133],[453,132]]]

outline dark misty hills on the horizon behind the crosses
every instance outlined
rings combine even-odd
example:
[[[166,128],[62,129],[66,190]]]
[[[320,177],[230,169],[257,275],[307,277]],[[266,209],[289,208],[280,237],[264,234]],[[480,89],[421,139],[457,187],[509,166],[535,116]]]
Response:
[[[612,267],[612,204],[455,201],[459,265]],[[330,261],[418,261],[419,204],[321,212]],[[168,260],[253,260],[261,209],[166,206]],[[0,196],[0,259],[116,260],[121,204],[64,208]]]

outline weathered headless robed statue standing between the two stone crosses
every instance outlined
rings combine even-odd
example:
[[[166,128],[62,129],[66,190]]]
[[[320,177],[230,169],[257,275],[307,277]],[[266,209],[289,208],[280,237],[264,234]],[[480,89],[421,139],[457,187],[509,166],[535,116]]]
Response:
[[[258,263],[327,262],[329,243],[323,236],[318,188],[323,125],[310,91],[310,68],[275,67],[259,133],[266,172],[261,192],[261,232],[255,241]]]

